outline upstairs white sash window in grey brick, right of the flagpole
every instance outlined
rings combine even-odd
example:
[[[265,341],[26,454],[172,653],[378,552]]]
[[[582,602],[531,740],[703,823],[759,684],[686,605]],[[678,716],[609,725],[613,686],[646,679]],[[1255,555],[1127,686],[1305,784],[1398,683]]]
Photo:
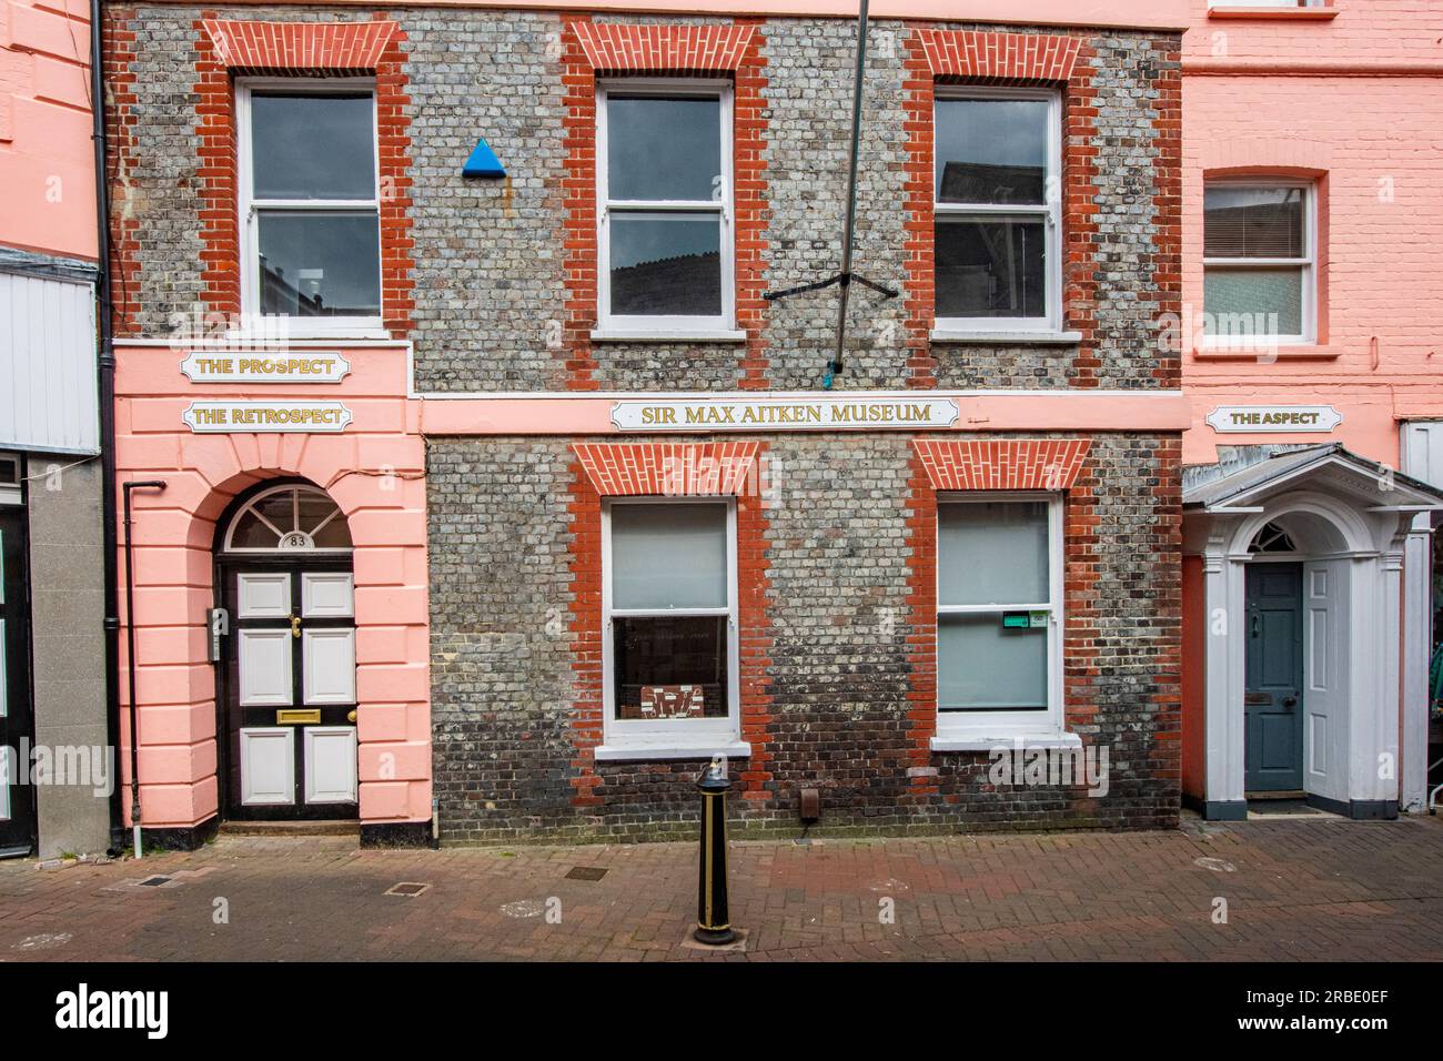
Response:
[[[1058,110],[1049,89],[938,88],[938,328],[1061,328]]]

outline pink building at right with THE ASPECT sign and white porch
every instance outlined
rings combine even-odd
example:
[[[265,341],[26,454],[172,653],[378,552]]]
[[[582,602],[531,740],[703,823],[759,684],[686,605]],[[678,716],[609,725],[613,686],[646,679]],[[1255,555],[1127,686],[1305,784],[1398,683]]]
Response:
[[[1219,817],[1430,790],[1440,36],[1420,0],[1192,1],[1185,793]]]

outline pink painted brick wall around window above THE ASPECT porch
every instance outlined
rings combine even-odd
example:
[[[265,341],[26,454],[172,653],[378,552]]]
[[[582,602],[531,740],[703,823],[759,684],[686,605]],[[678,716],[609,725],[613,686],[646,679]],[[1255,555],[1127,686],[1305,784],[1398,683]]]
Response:
[[[1304,13],[1304,14],[1316,14]],[[1336,440],[1397,465],[1398,419],[1443,416],[1443,6],[1336,0],[1333,17],[1225,17],[1192,0],[1183,38],[1183,302],[1202,312],[1203,175],[1317,176],[1320,342],[1276,362],[1190,344],[1188,463],[1218,443]],[[1335,406],[1326,435],[1216,435],[1218,406]]]

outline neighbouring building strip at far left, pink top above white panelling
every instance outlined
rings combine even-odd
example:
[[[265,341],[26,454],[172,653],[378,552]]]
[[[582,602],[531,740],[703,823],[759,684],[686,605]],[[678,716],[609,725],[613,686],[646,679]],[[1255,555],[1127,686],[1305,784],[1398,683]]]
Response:
[[[0,857],[105,850],[114,805],[89,49],[84,0],[0,10]]]

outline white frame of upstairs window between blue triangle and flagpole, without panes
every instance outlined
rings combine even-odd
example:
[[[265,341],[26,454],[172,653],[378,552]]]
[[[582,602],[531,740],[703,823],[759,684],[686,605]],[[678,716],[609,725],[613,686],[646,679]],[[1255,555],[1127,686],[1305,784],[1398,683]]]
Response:
[[[608,100],[623,95],[696,95],[720,100],[722,188],[711,199],[612,199],[608,159]],[[736,338],[736,237],[732,209],[732,104],[730,81],[698,78],[606,78],[596,84],[596,319],[597,336],[642,338]],[[716,214],[722,248],[722,312],[717,316],[638,316],[612,313],[612,215],[625,214]],[[745,335],[742,336],[745,338]]]

